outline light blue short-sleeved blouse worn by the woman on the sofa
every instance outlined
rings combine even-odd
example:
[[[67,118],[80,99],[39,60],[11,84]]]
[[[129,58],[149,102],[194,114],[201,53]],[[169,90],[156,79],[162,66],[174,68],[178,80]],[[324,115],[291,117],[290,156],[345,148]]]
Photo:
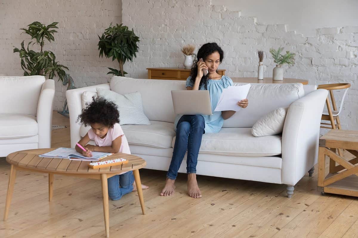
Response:
[[[193,83],[190,81],[191,76],[187,78],[187,87],[193,87]],[[232,86],[232,80],[228,76],[222,76],[221,79],[208,79],[208,90],[211,100],[212,115],[202,115],[205,119],[205,133],[218,133],[224,123],[224,119],[221,116],[221,111],[214,111],[221,93],[224,88]],[[202,85],[200,90],[205,90],[205,86]],[[176,131],[176,124],[182,115],[177,115],[174,122],[174,130]]]

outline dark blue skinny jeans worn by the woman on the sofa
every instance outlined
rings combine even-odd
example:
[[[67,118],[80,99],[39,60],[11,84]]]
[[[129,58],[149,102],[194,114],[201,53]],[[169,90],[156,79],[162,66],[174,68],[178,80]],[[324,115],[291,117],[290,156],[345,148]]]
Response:
[[[203,134],[205,120],[202,115],[183,115],[176,125],[176,139],[166,177],[176,179],[178,170],[188,149],[187,173],[197,172],[198,154]]]

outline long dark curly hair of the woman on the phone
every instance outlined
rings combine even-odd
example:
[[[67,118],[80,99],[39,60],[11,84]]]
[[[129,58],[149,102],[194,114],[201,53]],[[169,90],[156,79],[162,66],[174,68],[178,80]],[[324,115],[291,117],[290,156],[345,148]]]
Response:
[[[203,60],[205,61],[205,59],[211,55],[214,52],[218,52],[220,55],[220,63],[223,61],[224,58],[224,51],[220,48],[220,46],[218,46],[218,44],[216,43],[206,43],[204,45],[202,45],[202,47],[200,47],[200,49],[198,50],[198,55],[197,55],[197,59],[194,62],[193,68],[192,68],[192,72],[190,73],[191,79],[190,81],[192,82],[192,84],[194,85],[195,83],[195,78],[198,75],[198,61],[200,60],[200,58],[203,58]],[[202,79],[200,80],[200,84],[199,84],[199,89],[201,88],[202,85],[204,85],[205,89],[208,89],[208,75],[203,76]]]

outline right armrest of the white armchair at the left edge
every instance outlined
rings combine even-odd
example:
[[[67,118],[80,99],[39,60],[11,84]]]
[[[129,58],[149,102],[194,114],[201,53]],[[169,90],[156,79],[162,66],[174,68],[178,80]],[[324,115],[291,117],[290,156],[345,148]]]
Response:
[[[42,85],[37,105],[37,125],[39,128],[38,148],[51,148],[52,110],[55,96],[55,81],[47,79]]]

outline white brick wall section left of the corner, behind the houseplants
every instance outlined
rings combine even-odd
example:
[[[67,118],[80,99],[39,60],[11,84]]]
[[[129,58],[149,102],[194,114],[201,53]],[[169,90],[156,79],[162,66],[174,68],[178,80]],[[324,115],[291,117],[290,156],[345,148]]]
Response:
[[[0,74],[23,75],[19,53],[14,46],[25,45],[30,36],[21,34],[20,28],[33,21],[50,24],[54,21],[58,33],[55,41],[45,43],[44,49],[55,53],[61,64],[68,66],[69,74],[77,87],[107,83],[110,75],[107,67],[117,68],[116,61],[98,58],[98,36],[111,22],[121,23],[121,0],[2,0],[0,2]],[[58,78],[55,78],[57,81]],[[56,82],[54,109],[61,109],[65,100],[66,87]]]

